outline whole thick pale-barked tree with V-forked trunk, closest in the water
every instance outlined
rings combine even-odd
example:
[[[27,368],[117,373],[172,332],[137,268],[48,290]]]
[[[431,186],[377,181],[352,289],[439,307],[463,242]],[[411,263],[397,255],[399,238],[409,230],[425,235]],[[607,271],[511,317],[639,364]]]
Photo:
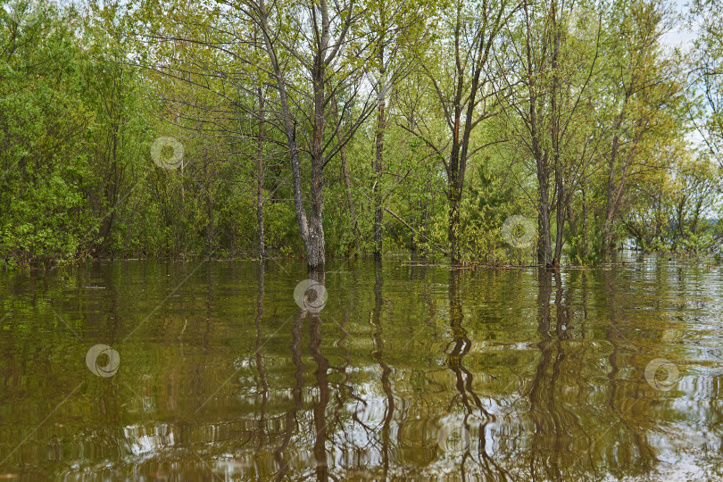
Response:
[[[360,61],[369,55],[373,38],[355,35],[354,25],[362,18],[363,10],[353,0],[288,5],[259,0],[247,2],[241,8],[261,31],[270,76],[278,91],[296,220],[306,247],[306,262],[312,270],[323,269],[326,262],[322,225],[324,167],[372,112],[369,96],[361,106],[353,106],[353,103],[362,97]],[[291,81],[295,75],[301,79],[299,83]],[[347,97],[338,113],[342,119],[352,119],[331,126],[329,132],[327,120],[331,99],[341,93]],[[342,126],[346,127],[344,132]],[[297,139],[297,134],[301,134],[303,140]],[[303,205],[300,153],[308,154],[311,161],[308,217]]]

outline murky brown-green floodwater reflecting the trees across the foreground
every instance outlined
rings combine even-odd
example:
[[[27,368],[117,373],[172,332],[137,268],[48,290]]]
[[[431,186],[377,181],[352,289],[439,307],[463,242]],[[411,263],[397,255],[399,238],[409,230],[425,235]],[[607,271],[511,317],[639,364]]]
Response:
[[[723,269],[627,259],[2,273],[0,478],[723,478]]]

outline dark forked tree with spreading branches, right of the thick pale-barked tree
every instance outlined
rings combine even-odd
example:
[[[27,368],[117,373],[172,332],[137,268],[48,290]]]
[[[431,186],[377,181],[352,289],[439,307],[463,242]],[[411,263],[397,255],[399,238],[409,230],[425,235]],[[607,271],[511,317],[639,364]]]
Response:
[[[426,120],[409,120],[411,132],[422,137],[444,165],[450,257],[457,263],[460,260],[460,209],[467,163],[474,154],[498,142],[474,145],[472,133],[496,113],[494,99],[498,84],[494,75],[500,72],[491,68],[493,47],[519,4],[509,0],[456,0],[451,6],[453,13],[443,18],[441,45],[421,64],[449,129],[448,136],[436,137]]]

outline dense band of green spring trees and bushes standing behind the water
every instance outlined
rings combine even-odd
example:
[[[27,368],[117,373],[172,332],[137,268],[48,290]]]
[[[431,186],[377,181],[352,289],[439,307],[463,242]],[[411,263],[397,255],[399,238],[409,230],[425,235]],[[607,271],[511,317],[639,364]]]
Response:
[[[0,258],[712,253],[722,18],[656,0],[4,3]],[[686,25],[690,51],[663,41]],[[511,215],[530,243],[504,239]]]

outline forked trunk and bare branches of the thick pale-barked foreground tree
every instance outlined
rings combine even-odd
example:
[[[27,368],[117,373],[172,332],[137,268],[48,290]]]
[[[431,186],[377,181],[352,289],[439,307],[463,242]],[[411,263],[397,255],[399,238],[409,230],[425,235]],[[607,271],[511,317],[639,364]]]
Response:
[[[306,250],[306,262],[310,271],[323,272],[326,262],[324,228],[322,223],[323,206],[324,206],[324,179],[323,170],[327,162],[337,154],[345,145],[345,142],[353,136],[356,129],[362,125],[364,120],[372,112],[369,104],[362,104],[362,109],[353,112],[355,120],[351,122],[349,129],[346,129],[345,136],[342,141],[338,141],[338,125],[334,126],[334,131],[328,139],[325,140],[325,118],[327,106],[331,97],[337,94],[342,88],[349,87],[350,82],[355,82],[353,74],[343,71],[339,65],[345,62],[339,62],[339,59],[345,55],[350,55],[351,47],[355,40],[362,37],[355,36],[353,25],[359,21],[362,10],[354,4],[353,0],[341,3],[328,3],[328,0],[319,0],[319,2],[303,2],[299,6],[306,10],[311,24],[300,21],[294,16],[289,16],[282,12],[281,7],[276,3],[267,6],[266,0],[245,0],[244,8],[248,9],[253,21],[262,31],[264,47],[269,56],[272,69],[272,78],[275,87],[278,89],[278,104],[280,105],[280,114],[283,121],[283,131],[287,137],[287,148],[289,152],[292,172],[292,186],[294,187],[294,207],[296,221],[299,224],[299,231]],[[271,15],[269,8],[278,15],[278,19],[270,21]],[[273,29],[270,25],[273,24]],[[302,35],[295,37],[289,34],[287,26],[294,29],[311,29],[310,35]],[[289,35],[287,35],[289,34]],[[302,45],[297,45],[301,42]],[[281,57],[287,58],[285,55],[279,55],[277,49],[283,49],[293,62],[298,62],[298,67],[303,69],[304,79],[311,81],[311,86],[295,86],[294,99],[289,95],[289,85],[287,84],[287,61],[279,60]],[[366,47],[362,51],[367,52]],[[288,67],[294,69],[295,67]],[[296,71],[290,76],[297,79]],[[311,92],[306,89],[311,87]],[[328,93],[329,98],[325,93]],[[352,96],[358,95],[357,90],[352,90]],[[303,100],[296,98],[302,96]],[[353,98],[350,100],[353,101]],[[313,112],[307,112],[305,115],[295,116],[291,111],[292,103],[297,108],[303,108],[303,105],[312,105]],[[344,113],[342,113],[342,116]],[[296,143],[296,121],[302,120],[303,126],[300,131],[304,136],[310,135],[303,145],[308,148],[308,153],[312,162],[312,172],[309,186],[309,195],[311,206],[309,216],[307,218],[303,205],[302,177],[299,158],[299,148]],[[307,120],[310,123],[307,123]],[[311,124],[311,125],[310,125]],[[333,142],[337,140],[337,142]],[[304,149],[306,152],[306,149]]]

